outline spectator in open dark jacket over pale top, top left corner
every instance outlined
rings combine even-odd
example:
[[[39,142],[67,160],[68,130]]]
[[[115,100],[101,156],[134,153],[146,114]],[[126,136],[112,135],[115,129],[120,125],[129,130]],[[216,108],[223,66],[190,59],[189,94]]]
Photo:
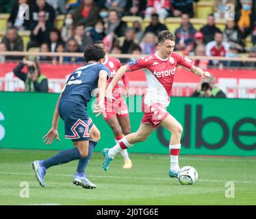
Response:
[[[14,7],[8,18],[8,27],[14,26],[18,31],[29,29],[29,19],[25,19],[24,5],[22,4],[29,4],[29,0],[15,0]],[[21,17],[24,19],[21,19]]]

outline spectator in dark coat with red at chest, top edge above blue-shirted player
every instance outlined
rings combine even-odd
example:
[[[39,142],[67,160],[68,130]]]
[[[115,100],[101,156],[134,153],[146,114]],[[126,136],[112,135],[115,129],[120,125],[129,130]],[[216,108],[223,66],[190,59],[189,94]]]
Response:
[[[75,8],[72,13],[78,24],[86,25],[86,27],[93,27],[99,17],[99,8],[94,5],[93,0],[83,0],[82,5]]]

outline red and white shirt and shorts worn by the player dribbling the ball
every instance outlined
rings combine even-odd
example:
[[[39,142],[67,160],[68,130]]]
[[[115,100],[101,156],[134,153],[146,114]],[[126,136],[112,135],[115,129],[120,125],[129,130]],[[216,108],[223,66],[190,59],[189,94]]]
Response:
[[[169,115],[166,107],[170,103],[170,92],[178,65],[191,70],[194,62],[178,53],[171,53],[165,60],[155,53],[126,65],[130,71],[145,69],[147,92],[142,103],[142,123],[150,123],[157,127]]]

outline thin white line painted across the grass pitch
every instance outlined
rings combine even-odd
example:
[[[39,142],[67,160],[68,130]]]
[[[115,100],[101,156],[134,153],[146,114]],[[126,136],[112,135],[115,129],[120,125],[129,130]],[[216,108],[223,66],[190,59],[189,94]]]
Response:
[[[29,172],[0,172],[1,174],[10,174],[10,175],[35,175],[34,173]],[[63,174],[49,174],[48,176],[57,176],[57,177],[73,177],[73,175],[63,175]],[[150,177],[116,177],[116,176],[94,176],[90,175],[89,177],[96,178],[113,178],[113,179],[142,179],[142,180],[170,180],[167,178],[150,178]],[[212,179],[198,179],[198,181],[203,182],[214,182],[214,183],[226,183],[227,181],[233,181],[234,183],[256,183],[255,181],[236,181],[236,180],[212,180]]]

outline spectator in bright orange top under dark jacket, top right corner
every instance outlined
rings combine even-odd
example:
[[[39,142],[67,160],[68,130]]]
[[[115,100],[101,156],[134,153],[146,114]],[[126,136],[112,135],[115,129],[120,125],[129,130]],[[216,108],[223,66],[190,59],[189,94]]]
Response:
[[[241,9],[235,13],[235,22],[238,23],[238,28],[242,32],[242,37],[246,38],[253,31],[253,26],[256,21],[255,8],[252,8],[253,1],[241,0]],[[254,7],[255,3],[254,3]]]

